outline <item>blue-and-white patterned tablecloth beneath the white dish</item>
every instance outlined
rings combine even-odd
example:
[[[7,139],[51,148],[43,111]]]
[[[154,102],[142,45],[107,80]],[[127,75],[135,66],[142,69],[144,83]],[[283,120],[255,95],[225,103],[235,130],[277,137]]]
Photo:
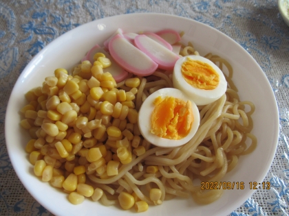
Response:
[[[45,45],[70,29],[138,12],[174,14],[215,27],[257,60],[279,106],[279,143],[265,178],[272,187],[258,189],[231,216],[289,215],[289,27],[277,0],[0,0],[0,215],[52,215],[23,187],[6,149],[6,107],[21,71]]]

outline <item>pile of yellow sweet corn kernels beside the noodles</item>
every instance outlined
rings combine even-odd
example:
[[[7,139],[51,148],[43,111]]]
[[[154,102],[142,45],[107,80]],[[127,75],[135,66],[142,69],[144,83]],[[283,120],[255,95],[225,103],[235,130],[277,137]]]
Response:
[[[72,204],[85,197],[100,200],[104,191],[87,183],[87,175],[106,179],[118,175],[121,165],[131,162],[149,149],[138,130],[135,97],[140,80],[125,81],[125,91],[116,88],[111,73],[103,72],[111,62],[96,53],[94,64],[84,61],[72,75],[56,69],[43,85],[25,94],[29,104],[21,108],[21,126],[32,139],[25,147],[34,173],[53,187],[69,193]],[[147,167],[156,173],[158,167]],[[160,190],[151,190],[151,200],[160,204]],[[120,206],[147,211],[148,204],[135,193],[122,191]]]

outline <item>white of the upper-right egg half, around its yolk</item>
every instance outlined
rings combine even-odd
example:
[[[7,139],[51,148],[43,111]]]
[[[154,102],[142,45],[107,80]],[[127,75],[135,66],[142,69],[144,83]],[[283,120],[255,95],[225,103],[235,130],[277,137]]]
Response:
[[[189,83],[184,80],[184,77],[182,76],[182,64],[188,60],[188,58],[191,58],[193,60],[198,60],[201,62],[204,62],[206,64],[209,64],[213,69],[219,74],[220,76],[220,82],[217,85],[215,89],[206,90],[206,89],[200,89],[195,88],[194,86],[191,86]],[[224,77],[223,72],[215,65],[211,60],[208,60],[207,58],[204,58],[202,56],[184,56],[180,58],[177,62],[175,62],[175,67],[173,69],[173,87],[180,89],[180,91],[183,91],[188,97],[197,104],[197,106],[202,106],[206,104],[211,104],[213,101],[216,101],[224,93],[227,89],[227,82],[226,78]]]

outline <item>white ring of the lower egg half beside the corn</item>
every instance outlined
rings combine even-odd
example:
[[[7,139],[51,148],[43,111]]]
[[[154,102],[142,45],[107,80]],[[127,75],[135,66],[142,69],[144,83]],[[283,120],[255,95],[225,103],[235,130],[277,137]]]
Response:
[[[153,101],[155,101],[155,99],[158,96],[161,97],[169,96],[182,99],[184,101],[188,100],[191,101],[194,119],[189,134],[187,134],[187,136],[184,137],[183,139],[179,140],[165,139],[156,136],[156,134],[152,134],[150,132],[151,114],[153,113],[153,109],[155,108]],[[182,91],[176,88],[162,88],[154,92],[153,94],[149,95],[149,97],[147,97],[147,99],[145,99],[144,102],[142,103],[140,111],[138,112],[138,128],[140,129],[140,133],[142,134],[144,139],[149,141],[149,143],[152,143],[153,145],[157,145],[160,147],[178,147],[180,145],[184,145],[193,138],[195,132],[197,132],[197,128],[199,128],[199,125],[200,125],[200,112],[197,109],[197,106],[195,105],[194,101],[192,101],[189,97],[187,97],[184,93],[182,93]]]

